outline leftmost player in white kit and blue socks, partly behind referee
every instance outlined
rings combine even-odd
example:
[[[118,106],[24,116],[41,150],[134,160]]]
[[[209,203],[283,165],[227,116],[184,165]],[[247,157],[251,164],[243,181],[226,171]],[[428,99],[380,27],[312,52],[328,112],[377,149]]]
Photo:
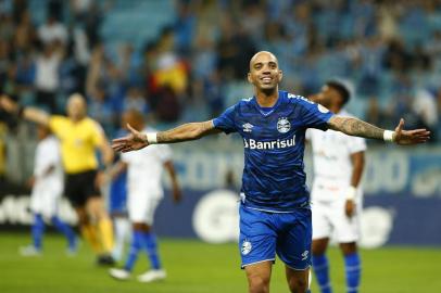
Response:
[[[41,253],[45,220],[50,220],[66,237],[67,252],[72,254],[76,251],[75,233],[58,217],[58,205],[63,192],[64,180],[60,143],[45,126],[38,126],[37,135],[39,142],[35,153],[34,176],[30,180],[33,186],[30,209],[34,213],[33,244],[21,247],[21,254],[32,256]]]

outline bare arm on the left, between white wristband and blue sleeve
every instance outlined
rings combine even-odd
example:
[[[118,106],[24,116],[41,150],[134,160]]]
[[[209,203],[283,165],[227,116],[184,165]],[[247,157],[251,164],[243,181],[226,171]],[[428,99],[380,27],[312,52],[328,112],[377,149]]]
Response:
[[[188,123],[171,130],[158,132],[159,143],[176,143],[200,139],[207,135],[219,133],[220,130],[214,128],[213,122]]]

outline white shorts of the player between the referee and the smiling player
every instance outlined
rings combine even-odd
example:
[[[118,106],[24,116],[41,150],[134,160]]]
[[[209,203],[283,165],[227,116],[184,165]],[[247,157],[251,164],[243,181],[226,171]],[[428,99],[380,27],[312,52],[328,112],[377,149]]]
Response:
[[[153,225],[154,212],[162,196],[147,194],[146,191],[131,191],[127,199],[128,217],[131,222]]]

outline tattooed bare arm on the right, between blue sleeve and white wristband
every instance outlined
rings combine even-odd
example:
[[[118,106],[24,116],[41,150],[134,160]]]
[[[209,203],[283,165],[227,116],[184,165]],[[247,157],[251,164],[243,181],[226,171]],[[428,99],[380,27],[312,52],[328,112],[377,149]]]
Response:
[[[379,140],[383,139],[382,135],[385,129],[352,117],[333,116],[329,119],[328,126],[332,130],[341,131],[349,136]]]

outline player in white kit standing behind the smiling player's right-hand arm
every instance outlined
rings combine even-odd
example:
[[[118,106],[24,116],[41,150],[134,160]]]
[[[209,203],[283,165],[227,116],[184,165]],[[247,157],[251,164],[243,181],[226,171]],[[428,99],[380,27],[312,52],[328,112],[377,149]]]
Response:
[[[344,82],[328,81],[313,97],[339,116],[351,116],[343,106],[350,99]],[[313,268],[322,293],[332,292],[326,249],[331,235],[343,253],[346,291],[358,292],[361,262],[356,242],[360,237],[362,190],[366,142],[335,130],[307,130],[313,148],[314,183],[311,193],[313,214]]]

